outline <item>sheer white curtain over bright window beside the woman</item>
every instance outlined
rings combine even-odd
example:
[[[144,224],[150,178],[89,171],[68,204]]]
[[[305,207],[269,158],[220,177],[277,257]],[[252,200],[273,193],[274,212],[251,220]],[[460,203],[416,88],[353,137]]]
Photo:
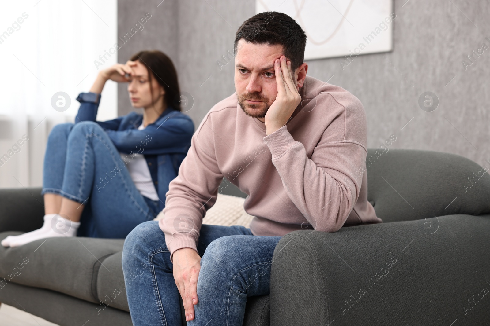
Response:
[[[88,92],[97,73],[117,63],[117,53],[106,54],[117,40],[117,0],[1,2],[0,187],[42,186],[49,131],[73,122],[78,93]],[[103,65],[96,66],[104,54]],[[55,96],[53,108],[58,92],[68,96]],[[102,99],[98,120],[115,118],[114,82],[106,84]]]

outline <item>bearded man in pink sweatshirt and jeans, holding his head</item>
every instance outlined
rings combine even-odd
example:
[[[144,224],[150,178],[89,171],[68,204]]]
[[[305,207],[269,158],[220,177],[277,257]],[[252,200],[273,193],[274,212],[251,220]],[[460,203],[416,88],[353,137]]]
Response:
[[[235,38],[236,92],[193,135],[164,217],[126,238],[133,324],[242,325],[246,298],[269,293],[272,253],[294,230],[379,223],[367,200],[366,114],[341,87],[307,77],[306,35],[260,13]],[[248,196],[250,228],[202,224],[225,176]]]

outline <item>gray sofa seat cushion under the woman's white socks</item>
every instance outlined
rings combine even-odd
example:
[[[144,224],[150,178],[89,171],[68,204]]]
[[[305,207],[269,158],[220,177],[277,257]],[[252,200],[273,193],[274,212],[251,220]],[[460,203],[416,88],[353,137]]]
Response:
[[[22,232],[1,232],[0,240],[19,234]],[[114,266],[103,261],[121,252],[123,244],[124,239],[75,237],[39,239],[13,248],[0,245],[0,287],[13,282],[100,303],[98,271],[110,267],[117,273]]]

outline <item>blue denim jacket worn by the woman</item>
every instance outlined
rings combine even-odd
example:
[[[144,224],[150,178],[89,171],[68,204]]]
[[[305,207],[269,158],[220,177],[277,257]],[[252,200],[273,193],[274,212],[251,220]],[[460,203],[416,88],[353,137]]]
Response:
[[[158,119],[143,130],[138,127],[143,114],[130,112],[114,120],[96,121],[100,94],[80,93],[80,102],[75,123],[94,121],[109,135],[117,150],[122,153],[143,154],[147,161],[151,179],[157,189],[160,211],[165,208],[169,183],[178,174],[180,163],[191,147],[194,123],[189,116],[168,107]]]

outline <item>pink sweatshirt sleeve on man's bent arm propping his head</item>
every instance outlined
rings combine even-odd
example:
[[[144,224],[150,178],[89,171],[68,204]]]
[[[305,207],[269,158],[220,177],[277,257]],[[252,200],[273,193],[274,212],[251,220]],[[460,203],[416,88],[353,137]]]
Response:
[[[367,156],[362,143],[331,141],[329,133],[327,128],[311,158],[287,125],[263,138],[288,196],[315,230],[322,232],[338,231],[349,216],[362,182],[362,177],[353,175],[366,165]]]

